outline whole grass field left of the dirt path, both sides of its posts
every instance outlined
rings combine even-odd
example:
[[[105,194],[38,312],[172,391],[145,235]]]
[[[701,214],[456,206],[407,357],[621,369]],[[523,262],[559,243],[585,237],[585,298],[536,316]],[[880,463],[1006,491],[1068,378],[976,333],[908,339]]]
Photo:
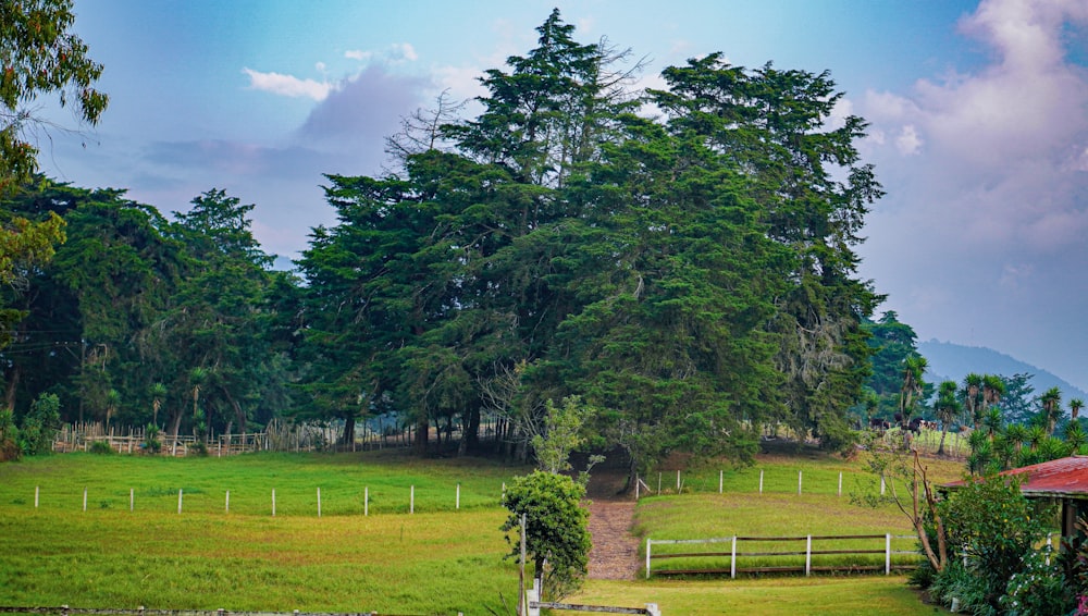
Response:
[[[499,531],[502,486],[521,472],[486,460],[397,454],[66,454],[0,465],[0,605],[497,609],[517,592],[517,568],[504,559],[509,545]],[[415,515],[407,513],[411,485]]]

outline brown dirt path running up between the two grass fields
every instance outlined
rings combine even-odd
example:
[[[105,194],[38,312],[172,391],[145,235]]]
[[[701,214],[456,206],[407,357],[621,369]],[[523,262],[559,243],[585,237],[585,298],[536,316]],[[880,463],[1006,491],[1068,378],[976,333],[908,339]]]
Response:
[[[590,578],[629,580],[639,572],[639,539],[631,534],[634,500],[617,495],[622,472],[594,472],[590,479]]]

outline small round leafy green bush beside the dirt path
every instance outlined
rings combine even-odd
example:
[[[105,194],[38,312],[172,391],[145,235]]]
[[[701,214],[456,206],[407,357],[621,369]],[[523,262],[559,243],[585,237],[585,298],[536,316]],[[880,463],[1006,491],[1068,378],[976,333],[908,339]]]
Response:
[[[542,579],[545,601],[562,599],[585,579],[591,543],[584,496],[585,488],[570,477],[540,470],[515,479],[506,490],[503,504],[510,516],[502,530],[524,532],[526,552]],[[508,534],[507,540],[512,545],[508,557],[520,557],[520,538]]]

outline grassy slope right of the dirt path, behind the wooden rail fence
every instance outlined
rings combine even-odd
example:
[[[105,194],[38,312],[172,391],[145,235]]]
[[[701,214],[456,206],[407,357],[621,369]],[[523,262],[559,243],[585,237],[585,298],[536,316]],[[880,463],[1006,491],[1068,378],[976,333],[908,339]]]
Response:
[[[948,481],[960,477],[962,465],[944,460],[925,460],[937,481]],[[636,533],[653,540],[727,539],[739,537],[794,537],[807,535],[874,535],[891,534],[893,552],[914,552],[916,540],[910,519],[893,504],[885,503],[876,508],[857,503],[863,494],[879,492],[879,479],[864,469],[866,459],[845,460],[838,456],[809,453],[800,456],[763,455],[756,466],[746,469],[726,470],[722,493],[717,493],[718,477],[714,479],[714,491],[676,495],[651,496],[640,502],[636,512]],[[764,470],[764,492],[758,492],[759,470]],[[796,493],[798,471],[802,473],[802,493]],[[839,495],[839,473],[843,476],[842,493]],[[675,473],[673,473],[675,475]],[[706,481],[707,471],[689,473],[693,484]],[[712,473],[716,475],[716,473]],[[681,478],[683,475],[681,475]],[[755,480],[755,490],[751,489]],[[783,478],[791,478],[792,491]],[[673,478],[675,481],[675,478]],[[808,485],[809,489],[806,489]],[[830,488],[828,488],[828,485]],[[675,488],[675,483],[673,483]],[[898,488],[902,497],[908,498],[902,481],[894,485],[889,480],[886,493]],[[907,507],[910,502],[904,502]],[[729,542],[707,544],[660,544],[652,547],[652,554],[696,554],[716,553],[716,556],[683,556],[654,559],[653,571],[682,569],[730,568]],[[861,551],[877,550],[869,554],[816,554],[813,567],[874,567],[885,564],[883,539],[838,539],[814,540],[813,551]],[[740,541],[738,553],[805,552],[806,541]],[[645,556],[645,543],[641,545]],[[916,554],[895,554],[893,565],[910,565],[920,559]],[[804,555],[783,556],[738,556],[738,567],[803,567]]]

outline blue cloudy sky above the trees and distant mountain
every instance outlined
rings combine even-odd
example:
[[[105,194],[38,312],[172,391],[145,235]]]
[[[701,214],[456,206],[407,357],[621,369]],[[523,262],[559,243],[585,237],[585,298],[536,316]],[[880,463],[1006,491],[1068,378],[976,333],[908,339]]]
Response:
[[[484,94],[553,7],[644,59],[643,86],[715,51],[829,71],[887,193],[858,249],[878,313],[1088,389],[1085,0],[75,0],[111,102],[39,135],[42,171],[164,213],[225,189],[289,267],[335,224],[323,174],[381,173],[404,116]]]

